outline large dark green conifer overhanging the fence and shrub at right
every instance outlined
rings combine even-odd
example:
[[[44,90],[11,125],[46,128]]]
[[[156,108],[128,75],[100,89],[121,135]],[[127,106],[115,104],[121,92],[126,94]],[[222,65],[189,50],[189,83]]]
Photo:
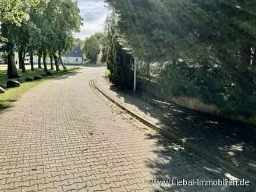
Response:
[[[142,61],[182,60],[232,72],[244,91],[256,91],[250,70],[256,40],[253,0],[115,1],[119,29]]]

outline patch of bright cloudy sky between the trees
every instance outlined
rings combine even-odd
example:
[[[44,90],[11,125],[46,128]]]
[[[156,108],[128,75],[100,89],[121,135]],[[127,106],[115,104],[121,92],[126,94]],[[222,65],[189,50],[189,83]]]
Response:
[[[106,8],[104,0],[77,0],[77,2],[84,25],[81,26],[80,33],[74,33],[74,37],[85,40],[96,32],[103,32],[105,18],[111,13],[111,10]]]

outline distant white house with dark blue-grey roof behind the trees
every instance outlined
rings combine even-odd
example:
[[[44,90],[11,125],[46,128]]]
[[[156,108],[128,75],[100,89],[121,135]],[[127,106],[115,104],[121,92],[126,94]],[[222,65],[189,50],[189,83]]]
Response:
[[[77,46],[72,52],[62,54],[61,58],[65,64],[80,65],[83,63],[84,56],[80,46]]]

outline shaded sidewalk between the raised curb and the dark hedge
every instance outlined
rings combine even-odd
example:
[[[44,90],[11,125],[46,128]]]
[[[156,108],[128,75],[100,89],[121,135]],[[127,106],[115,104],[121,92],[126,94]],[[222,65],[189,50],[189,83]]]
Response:
[[[256,175],[256,126],[193,111],[145,93],[125,93],[110,86],[120,99],[157,119],[158,126],[175,133],[237,168]],[[161,143],[161,139],[159,139]],[[161,155],[164,157],[164,154]],[[157,162],[152,162],[157,165]]]

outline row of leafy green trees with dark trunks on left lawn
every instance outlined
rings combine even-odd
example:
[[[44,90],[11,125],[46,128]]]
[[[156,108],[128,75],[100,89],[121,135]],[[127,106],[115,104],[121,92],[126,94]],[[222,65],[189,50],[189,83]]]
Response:
[[[55,57],[56,69],[61,54],[73,48],[73,32],[79,32],[82,19],[76,1],[72,0],[3,0],[0,2],[2,51],[8,53],[8,75],[17,77],[14,52],[19,60],[29,53],[41,56],[47,70],[47,54]],[[63,63],[62,63],[63,65]],[[63,67],[65,67],[63,65]],[[32,68],[32,66],[31,66]],[[24,69],[24,66],[23,66]],[[23,72],[26,72],[24,69]]]

